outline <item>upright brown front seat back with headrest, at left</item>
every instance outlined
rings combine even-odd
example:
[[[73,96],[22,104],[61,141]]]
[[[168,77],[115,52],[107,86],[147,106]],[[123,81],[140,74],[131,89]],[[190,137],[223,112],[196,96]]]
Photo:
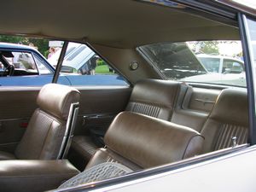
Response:
[[[79,91],[61,84],[46,84],[38,94],[39,108],[32,114],[24,136],[15,150],[21,160],[52,160],[60,153],[67,131],[72,103],[79,102]]]

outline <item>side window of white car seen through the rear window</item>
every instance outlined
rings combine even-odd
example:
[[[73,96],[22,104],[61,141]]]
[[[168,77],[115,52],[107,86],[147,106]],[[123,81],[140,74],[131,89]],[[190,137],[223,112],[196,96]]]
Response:
[[[224,59],[223,73],[242,73],[244,71],[243,64],[239,61]]]

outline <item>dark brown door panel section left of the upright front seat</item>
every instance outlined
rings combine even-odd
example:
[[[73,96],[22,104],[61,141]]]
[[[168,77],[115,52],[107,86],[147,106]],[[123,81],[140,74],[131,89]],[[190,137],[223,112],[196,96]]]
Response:
[[[40,88],[1,88],[0,90],[0,150],[13,151],[19,143],[28,120],[37,108]]]

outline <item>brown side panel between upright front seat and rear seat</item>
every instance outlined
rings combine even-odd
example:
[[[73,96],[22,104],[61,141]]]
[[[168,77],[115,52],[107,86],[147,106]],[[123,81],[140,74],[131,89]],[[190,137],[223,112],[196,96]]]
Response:
[[[79,91],[81,99],[75,135],[89,131],[104,134],[114,116],[125,110],[131,95],[131,88],[127,86],[86,87]]]

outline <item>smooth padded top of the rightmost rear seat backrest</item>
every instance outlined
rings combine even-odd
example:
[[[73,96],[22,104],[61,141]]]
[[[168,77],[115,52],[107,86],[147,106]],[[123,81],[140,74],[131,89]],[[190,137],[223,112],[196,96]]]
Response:
[[[222,90],[209,118],[224,123],[248,126],[247,91]]]

